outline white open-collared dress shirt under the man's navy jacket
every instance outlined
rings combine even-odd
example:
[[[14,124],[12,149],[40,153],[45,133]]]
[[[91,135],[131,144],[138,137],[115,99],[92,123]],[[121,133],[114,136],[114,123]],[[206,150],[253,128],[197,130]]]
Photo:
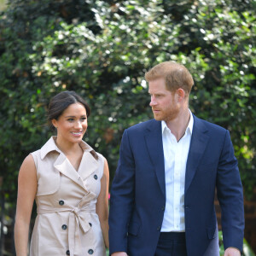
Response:
[[[166,209],[161,232],[184,232],[185,173],[194,119],[191,111],[189,125],[177,142],[165,121],[161,121],[166,173]]]

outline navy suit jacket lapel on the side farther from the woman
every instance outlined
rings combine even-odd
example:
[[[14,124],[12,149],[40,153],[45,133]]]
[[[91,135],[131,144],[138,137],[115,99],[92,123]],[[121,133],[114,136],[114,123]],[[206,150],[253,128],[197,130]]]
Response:
[[[197,119],[194,115],[194,127],[189,147],[189,155],[186,166],[185,177],[185,193],[189,189],[197,166],[201,161],[201,157],[207,147],[209,137],[207,136],[207,129],[201,122],[201,119]]]

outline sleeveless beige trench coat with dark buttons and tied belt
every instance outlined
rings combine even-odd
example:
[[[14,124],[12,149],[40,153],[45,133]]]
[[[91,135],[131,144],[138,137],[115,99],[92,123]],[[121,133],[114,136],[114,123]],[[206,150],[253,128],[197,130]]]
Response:
[[[106,255],[96,200],[101,190],[104,158],[87,143],[78,172],[51,137],[32,153],[38,176],[38,216],[31,256]]]

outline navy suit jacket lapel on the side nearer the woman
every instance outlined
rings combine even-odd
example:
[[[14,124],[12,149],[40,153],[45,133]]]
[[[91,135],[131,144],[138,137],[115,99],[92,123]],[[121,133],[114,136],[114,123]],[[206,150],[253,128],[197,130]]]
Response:
[[[166,196],[165,160],[162,143],[161,122],[152,121],[145,133],[148,153],[154,164],[155,174],[163,195]]]

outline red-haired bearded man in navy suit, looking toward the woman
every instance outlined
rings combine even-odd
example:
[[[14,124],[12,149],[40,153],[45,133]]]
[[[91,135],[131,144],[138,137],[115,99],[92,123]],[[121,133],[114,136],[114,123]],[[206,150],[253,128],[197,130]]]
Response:
[[[215,188],[225,256],[241,255],[241,178],[224,128],[189,110],[191,74],[167,61],[145,74],[154,119],[125,130],[109,216],[113,256],[217,256]]]

